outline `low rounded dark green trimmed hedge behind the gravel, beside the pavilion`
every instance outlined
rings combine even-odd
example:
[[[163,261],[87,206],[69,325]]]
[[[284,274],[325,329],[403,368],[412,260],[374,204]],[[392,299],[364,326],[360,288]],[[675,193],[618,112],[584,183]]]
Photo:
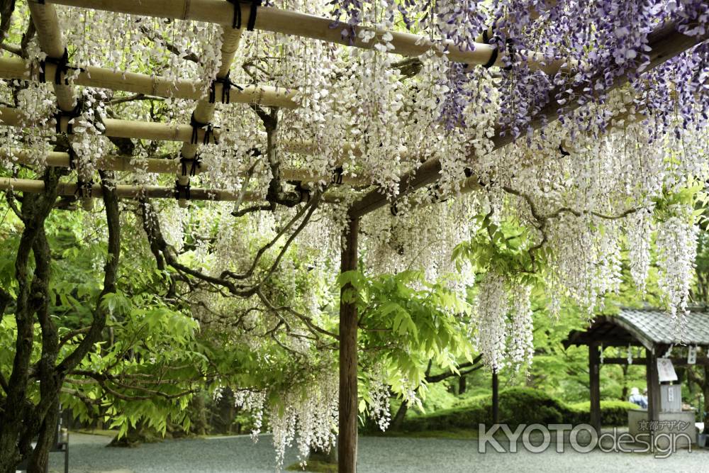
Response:
[[[603,425],[625,425],[627,410],[635,404],[625,401],[601,401]],[[500,422],[518,424],[588,423],[591,403],[565,404],[544,391],[529,388],[510,388],[500,393]],[[479,396],[462,406],[429,414],[408,416],[399,430],[421,432],[450,428],[477,428],[480,423],[492,423],[492,397]]]

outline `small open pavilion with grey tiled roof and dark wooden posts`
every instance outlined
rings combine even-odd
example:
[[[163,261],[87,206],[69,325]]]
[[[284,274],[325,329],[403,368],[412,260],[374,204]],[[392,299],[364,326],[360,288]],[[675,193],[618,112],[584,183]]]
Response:
[[[615,316],[599,316],[586,330],[572,330],[564,347],[588,345],[588,373],[591,399],[591,425],[601,430],[601,349],[602,347],[643,347],[645,357],[633,363],[647,369],[647,420],[659,420],[660,382],[657,359],[675,344],[674,321],[667,313],[652,309],[623,308]],[[692,311],[686,316],[683,345],[709,347],[709,312]],[[676,366],[688,365],[687,357],[671,357]],[[627,365],[627,358],[603,358],[603,365]],[[697,357],[697,365],[709,365],[709,357]]]

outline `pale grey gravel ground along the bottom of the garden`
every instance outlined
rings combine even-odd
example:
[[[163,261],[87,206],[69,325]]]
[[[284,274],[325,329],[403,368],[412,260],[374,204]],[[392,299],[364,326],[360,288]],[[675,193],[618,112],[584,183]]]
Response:
[[[268,435],[254,445],[248,436],[169,440],[136,448],[106,448],[108,438],[72,434],[72,473],[267,473],[274,472],[274,450]],[[296,461],[294,449],[286,465]],[[50,472],[63,472],[62,457],[51,455]],[[476,440],[378,438],[359,440],[358,471],[362,473],[448,472],[704,472],[709,450],[681,450],[668,459],[648,454],[588,454],[547,451],[478,452]]]

